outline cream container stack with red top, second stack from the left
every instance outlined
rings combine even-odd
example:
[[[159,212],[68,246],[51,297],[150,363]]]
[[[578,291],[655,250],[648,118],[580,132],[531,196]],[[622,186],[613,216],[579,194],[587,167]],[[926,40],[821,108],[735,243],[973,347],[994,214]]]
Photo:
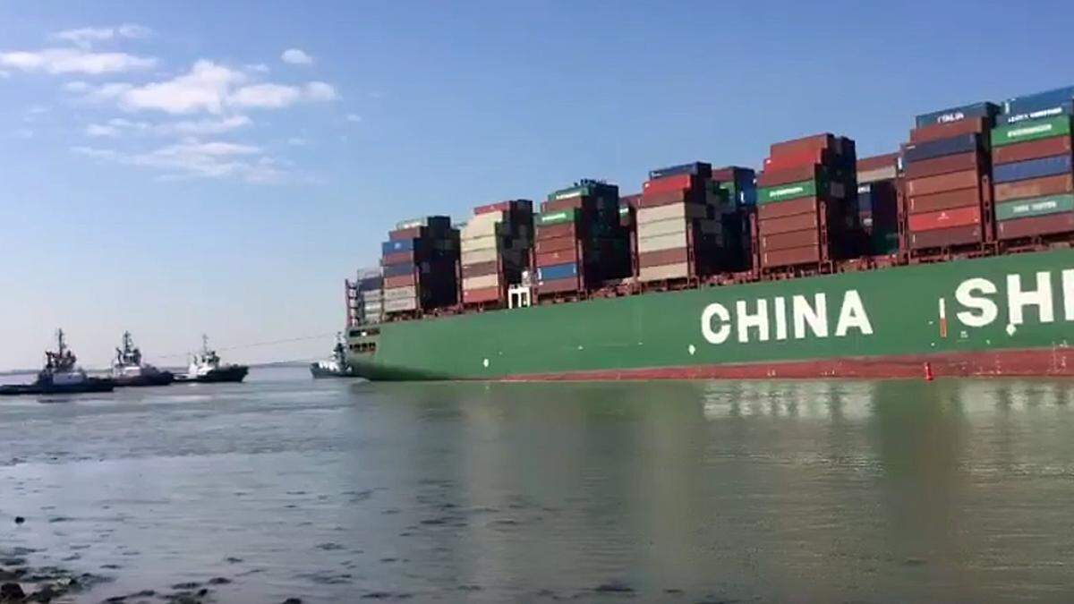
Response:
[[[460,230],[463,304],[503,307],[507,287],[522,281],[533,247],[533,202],[503,201],[474,208]]]

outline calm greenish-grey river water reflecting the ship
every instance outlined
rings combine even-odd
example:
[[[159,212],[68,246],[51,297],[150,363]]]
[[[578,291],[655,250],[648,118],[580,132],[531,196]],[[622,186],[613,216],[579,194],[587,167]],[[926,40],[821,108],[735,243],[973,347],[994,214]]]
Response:
[[[77,602],[1074,599],[1074,382],[275,369],[49,403],[0,403],[0,543],[113,579]]]

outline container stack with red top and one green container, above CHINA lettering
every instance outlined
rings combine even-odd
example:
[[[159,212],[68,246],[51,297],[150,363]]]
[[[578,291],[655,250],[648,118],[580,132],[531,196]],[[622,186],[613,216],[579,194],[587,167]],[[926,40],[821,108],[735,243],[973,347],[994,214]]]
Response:
[[[757,177],[760,269],[815,265],[859,250],[854,141],[830,133],[771,146]]]

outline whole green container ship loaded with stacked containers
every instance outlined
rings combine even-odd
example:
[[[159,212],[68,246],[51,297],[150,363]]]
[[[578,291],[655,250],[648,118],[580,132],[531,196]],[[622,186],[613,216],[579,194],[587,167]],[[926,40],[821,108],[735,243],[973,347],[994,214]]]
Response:
[[[1074,87],[407,220],[348,279],[379,380],[1074,375]]]

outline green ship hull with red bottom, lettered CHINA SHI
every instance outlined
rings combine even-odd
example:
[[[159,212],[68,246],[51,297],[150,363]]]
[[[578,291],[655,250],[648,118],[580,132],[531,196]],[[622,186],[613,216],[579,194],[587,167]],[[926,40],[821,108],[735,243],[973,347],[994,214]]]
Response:
[[[369,379],[1074,375],[1074,250],[386,322]]]

